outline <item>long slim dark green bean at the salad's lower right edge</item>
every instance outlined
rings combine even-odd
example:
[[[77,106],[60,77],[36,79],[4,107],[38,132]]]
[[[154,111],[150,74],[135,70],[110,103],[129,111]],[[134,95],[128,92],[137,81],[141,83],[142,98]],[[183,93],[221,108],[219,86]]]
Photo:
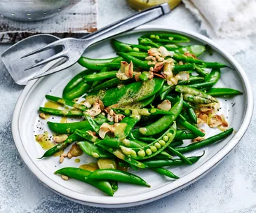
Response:
[[[183,146],[183,147],[177,147],[175,148],[175,150],[184,153],[187,151],[193,151],[195,149],[201,148],[203,146],[208,146],[210,144],[213,144],[221,139],[224,139],[225,137],[228,137],[229,135],[232,134],[232,132],[234,131],[233,128],[230,128],[229,130],[225,131],[225,132],[220,132],[217,135],[214,135],[212,137],[208,137],[207,139],[203,139],[200,142],[196,142],[194,144],[190,144],[188,146]]]

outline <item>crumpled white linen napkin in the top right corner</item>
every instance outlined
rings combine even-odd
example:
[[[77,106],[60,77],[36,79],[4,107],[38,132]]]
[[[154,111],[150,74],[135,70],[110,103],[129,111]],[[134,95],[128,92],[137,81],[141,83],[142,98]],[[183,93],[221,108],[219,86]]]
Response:
[[[256,34],[255,0],[183,0],[186,8],[201,22],[201,29],[217,43],[229,43],[232,54],[251,44]]]

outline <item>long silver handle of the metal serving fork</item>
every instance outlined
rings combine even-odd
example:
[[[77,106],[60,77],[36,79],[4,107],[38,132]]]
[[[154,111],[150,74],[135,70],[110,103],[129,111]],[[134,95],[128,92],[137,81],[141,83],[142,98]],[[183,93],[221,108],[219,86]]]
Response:
[[[160,16],[166,15],[168,13],[170,13],[169,5],[167,3],[160,4],[159,6],[154,6],[133,15],[129,15],[122,20],[114,22],[112,25],[107,25],[106,27],[103,27],[102,29],[99,29],[96,32],[91,33],[89,36],[85,36],[81,39],[85,39],[90,43],[96,43],[97,41],[107,39],[109,37],[121,34],[122,32],[126,32],[130,29],[143,25],[144,23],[155,20],[156,18],[159,18]],[[88,46],[87,42],[86,46]]]

